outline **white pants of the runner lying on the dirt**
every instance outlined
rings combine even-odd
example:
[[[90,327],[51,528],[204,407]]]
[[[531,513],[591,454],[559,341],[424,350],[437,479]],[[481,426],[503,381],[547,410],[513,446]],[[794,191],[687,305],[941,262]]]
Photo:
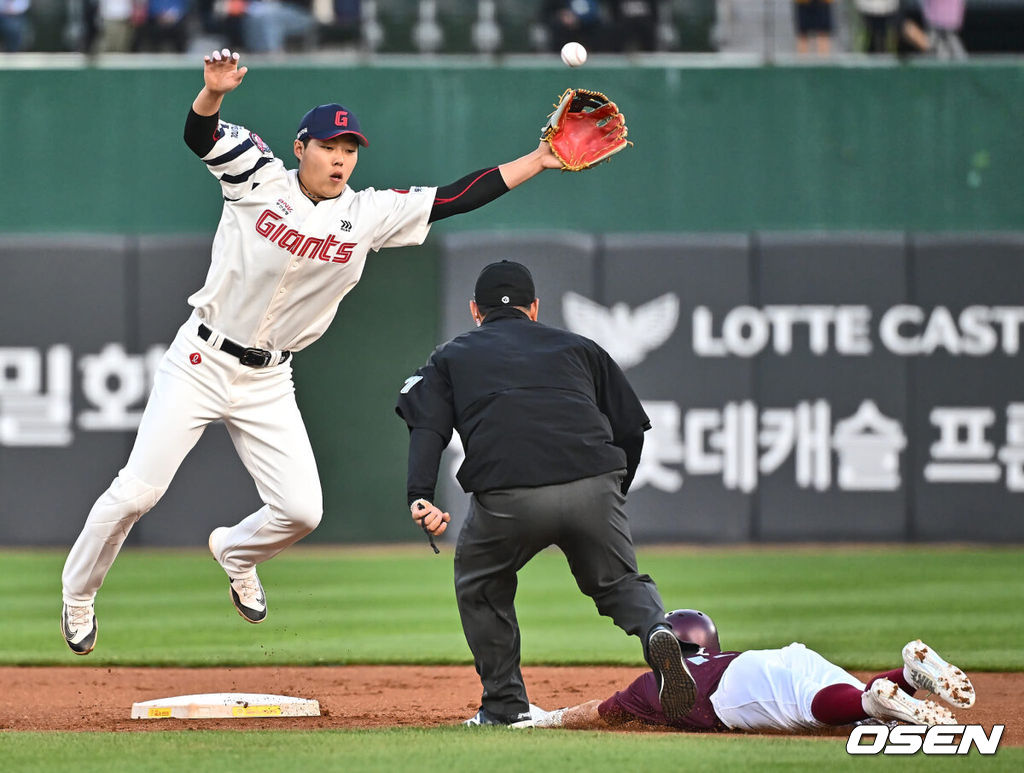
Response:
[[[803,644],[752,649],[729,663],[711,702],[732,730],[821,728],[824,725],[811,714],[811,701],[818,690],[833,684],[866,687]]]

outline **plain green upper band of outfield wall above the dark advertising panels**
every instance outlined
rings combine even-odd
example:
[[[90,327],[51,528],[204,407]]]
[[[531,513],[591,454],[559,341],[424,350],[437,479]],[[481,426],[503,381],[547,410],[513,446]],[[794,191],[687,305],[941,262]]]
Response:
[[[177,61],[175,59],[174,61]],[[371,146],[356,186],[449,182],[529,149],[566,86],[607,91],[635,146],[454,229],[977,230],[1024,224],[1024,65],[665,67],[526,58],[253,63],[223,115],[288,157],[336,100]],[[414,63],[410,63],[414,62]],[[2,67],[2,66],[0,66]],[[219,195],[181,142],[200,68],[0,69],[0,232],[202,232]]]

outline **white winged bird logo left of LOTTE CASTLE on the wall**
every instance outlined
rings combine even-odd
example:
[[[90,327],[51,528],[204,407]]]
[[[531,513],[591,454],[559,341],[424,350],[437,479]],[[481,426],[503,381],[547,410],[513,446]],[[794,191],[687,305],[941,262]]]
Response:
[[[625,303],[605,308],[569,292],[562,296],[562,316],[570,331],[596,341],[625,371],[669,340],[679,323],[679,296],[666,293],[631,311]]]

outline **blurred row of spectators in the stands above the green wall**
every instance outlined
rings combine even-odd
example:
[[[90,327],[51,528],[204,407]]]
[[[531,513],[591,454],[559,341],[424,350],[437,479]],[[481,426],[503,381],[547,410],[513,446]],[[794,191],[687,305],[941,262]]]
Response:
[[[962,58],[965,15],[986,8],[1006,50],[1024,50],[1024,0],[0,0],[0,50],[501,54],[578,41],[596,53]]]

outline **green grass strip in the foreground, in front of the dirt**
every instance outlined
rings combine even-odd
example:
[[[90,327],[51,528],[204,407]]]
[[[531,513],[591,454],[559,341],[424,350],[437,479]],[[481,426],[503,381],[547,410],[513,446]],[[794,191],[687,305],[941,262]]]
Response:
[[[848,757],[841,741],[680,733],[510,731],[504,728],[322,732],[0,733],[5,771],[1020,771],[1024,753],[968,759]]]

